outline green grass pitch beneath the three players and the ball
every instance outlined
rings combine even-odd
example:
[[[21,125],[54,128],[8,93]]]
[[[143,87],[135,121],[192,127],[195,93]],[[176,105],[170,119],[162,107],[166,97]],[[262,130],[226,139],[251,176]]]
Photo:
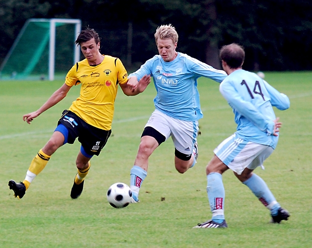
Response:
[[[192,229],[211,218],[206,164],[213,149],[235,131],[234,115],[218,84],[201,78],[204,118],[199,121],[198,163],[181,175],[174,169],[171,139],[150,158],[140,203],[112,208],[106,191],[129,184],[130,169],[144,125],[154,110],[151,84],[135,97],[120,90],[112,135],[91,160],[84,190],[70,197],[79,143],[61,147],[21,200],[7,183],[23,181],[30,161],[50,138],[64,109],[79,94],[73,87],[58,105],[28,125],[23,114],[37,110],[63,81],[0,81],[0,247],[1,248],[311,248],[312,247],[312,72],[267,72],[266,80],[287,94],[291,107],[276,110],[283,123],[275,152],[257,169],[289,221],[270,224],[269,211],[231,171],[223,176],[227,229]],[[165,200],[161,201],[161,197]]]

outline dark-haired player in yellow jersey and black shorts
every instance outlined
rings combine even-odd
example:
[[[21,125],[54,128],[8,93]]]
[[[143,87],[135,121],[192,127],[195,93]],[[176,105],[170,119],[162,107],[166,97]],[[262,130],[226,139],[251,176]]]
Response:
[[[31,161],[25,180],[20,183],[13,180],[8,182],[14,196],[19,199],[44,169],[52,154],[66,143],[73,144],[78,137],[81,143],[76,159],[78,173],[71,191],[71,197],[76,199],[82,192],[90,159],[93,155],[99,155],[111,134],[118,85],[125,95],[134,96],[143,92],[151,82],[151,77],[145,76],[137,85],[128,85],[128,74],[122,62],[100,53],[100,38],[94,29],[82,30],[75,43],[80,45],[85,59],[70,69],[63,86],[45,104],[23,116],[23,120],[30,124],[34,118],[64,99],[72,86],[81,84],[80,96],[63,112],[50,140]]]

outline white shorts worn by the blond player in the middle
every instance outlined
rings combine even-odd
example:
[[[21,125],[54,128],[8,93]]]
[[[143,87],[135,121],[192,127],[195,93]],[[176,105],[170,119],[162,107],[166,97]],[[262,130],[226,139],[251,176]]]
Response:
[[[183,154],[192,154],[198,133],[198,121],[187,122],[172,118],[155,110],[145,127],[151,126],[165,136],[171,136],[175,149]]]

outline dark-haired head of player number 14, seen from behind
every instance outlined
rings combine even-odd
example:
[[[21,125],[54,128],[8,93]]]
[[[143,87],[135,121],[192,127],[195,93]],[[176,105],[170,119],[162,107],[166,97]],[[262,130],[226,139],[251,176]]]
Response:
[[[220,59],[231,68],[241,67],[245,59],[244,48],[236,43],[223,46],[220,50]]]

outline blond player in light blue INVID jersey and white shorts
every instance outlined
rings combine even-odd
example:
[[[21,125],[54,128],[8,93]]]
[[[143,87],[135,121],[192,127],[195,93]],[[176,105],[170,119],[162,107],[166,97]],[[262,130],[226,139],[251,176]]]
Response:
[[[176,52],[178,34],[171,25],[159,26],[155,39],[159,55],[128,76],[128,83],[134,87],[144,76],[152,76],[157,91],[154,99],[156,110],[144,128],[130,172],[130,188],[136,202],[139,200],[142,182],[147,176],[149,157],[170,136],[175,147],[176,170],[184,173],[195,165],[198,154],[198,120],[203,117],[197,79],[204,76],[221,83],[227,77],[223,70]]]

